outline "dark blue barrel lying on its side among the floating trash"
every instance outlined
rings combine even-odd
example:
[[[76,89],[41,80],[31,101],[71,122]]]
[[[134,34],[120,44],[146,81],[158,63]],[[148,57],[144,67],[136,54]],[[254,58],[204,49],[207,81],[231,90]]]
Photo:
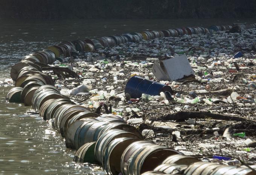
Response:
[[[142,94],[157,96],[160,95],[160,92],[165,91],[172,93],[172,88],[139,76],[131,77],[125,87],[125,93],[130,94],[132,98],[140,98]]]

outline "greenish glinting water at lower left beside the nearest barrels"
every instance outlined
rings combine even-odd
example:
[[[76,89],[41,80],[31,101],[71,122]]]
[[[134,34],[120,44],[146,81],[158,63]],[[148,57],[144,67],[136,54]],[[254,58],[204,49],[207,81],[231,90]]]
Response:
[[[75,165],[75,151],[66,149],[46,121],[38,114],[25,114],[28,107],[7,103],[3,95],[10,88],[1,88],[0,174],[104,174],[98,166]]]

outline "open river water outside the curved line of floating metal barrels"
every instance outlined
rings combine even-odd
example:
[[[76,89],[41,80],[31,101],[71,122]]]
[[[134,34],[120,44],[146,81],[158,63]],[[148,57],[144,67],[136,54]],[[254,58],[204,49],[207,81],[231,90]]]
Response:
[[[134,31],[255,22],[255,19],[95,19],[15,21],[0,19],[0,81],[10,78],[11,66],[25,55],[62,41]],[[76,165],[75,151],[31,108],[7,103],[12,85],[0,87],[0,175],[105,174],[100,166]],[[29,115],[28,115],[29,114]]]

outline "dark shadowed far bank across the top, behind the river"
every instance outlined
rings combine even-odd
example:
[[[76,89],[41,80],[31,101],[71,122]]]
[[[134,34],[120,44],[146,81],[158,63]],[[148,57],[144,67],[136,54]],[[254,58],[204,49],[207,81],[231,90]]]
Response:
[[[0,0],[0,18],[255,18],[256,0]]]

